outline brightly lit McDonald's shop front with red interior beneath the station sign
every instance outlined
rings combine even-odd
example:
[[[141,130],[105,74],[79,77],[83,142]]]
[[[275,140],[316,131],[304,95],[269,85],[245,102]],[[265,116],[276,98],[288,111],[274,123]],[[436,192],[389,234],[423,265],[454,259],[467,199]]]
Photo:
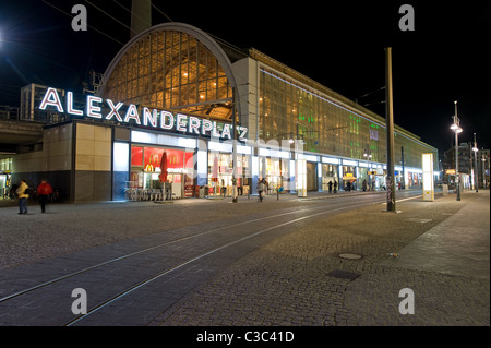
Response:
[[[132,130],[131,134],[130,179],[124,188],[128,200],[154,200],[159,193],[163,199],[232,195],[231,142],[142,130]],[[242,195],[251,192],[251,148],[243,145],[238,148],[236,178],[238,194]],[[164,170],[167,172],[165,183],[160,177]]]

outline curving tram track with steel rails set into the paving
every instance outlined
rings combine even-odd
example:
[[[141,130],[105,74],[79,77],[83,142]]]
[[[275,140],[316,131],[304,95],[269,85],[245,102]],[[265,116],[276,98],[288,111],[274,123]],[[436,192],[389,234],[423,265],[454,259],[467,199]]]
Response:
[[[159,249],[163,249],[165,247],[169,247],[172,244],[178,244],[178,243],[183,243],[185,241],[190,241],[191,239],[194,238],[200,238],[200,237],[204,237],[207,235],[212,235],[212,233],[218,233],[219,238],[216,242],[218,242],[218,245],[214,245],[214,241],[211,241],[212,245],[208,247],[206,250],[196,253],[193,253],[193,255],[189,255],[185,256],[185,259],[183,260],[177,260],[173,263],[171,263],[170,265],[166,266],[163,271],[152,271],[152,275],[151,276],[146,276],[143,279],[139,279],[136,281],[134,281],[133,284],[131,284],[130,286],[125,286],[124,289],[116,292],[116,293],[111,293],[109,296],[107,296],[105,299],[103,300],[97,300],[97,303],[92,305],[91,309],[87,310],[86,314],[80,314],[71,320],[64,321],[63,322],[63,326],[72,326],[75,325],[80,322],[82,322],[83,320],[87,319],[88,316],[93,315],[94,313],[100,311],[101,309],[106,308],[107,305],[124,298],[125,296],[135,292],[136,290],[152,284],[153,281],[163,278],[164,276],[170,275],[171,273],[183,268],[187,265],[191,265],[200,260],[205,259],[206,256],[209,256],[212,254],[217,253],[218,251],[228,249],[232,245],[237,245],[241,242],[244,242],[247,240],[250,240],[254,237],[264,235],[266,232],[273,231],[275,229],[282,228],[282,227],[286,227],[289,225],[294,225],[296,223],[301,223],[311,218],[314,218],[316,216],[326,214],[326,213],[342,213],[343,211],[349,211],[349,209],[356,209],[359,207],[363,207],[363,206],[368,206],[371,204],[379,204],[379,203],[383,203],[383,202],[363,202],[363,203],[354,203],[352,201],[349,202],[343,202],[343,203],[337,203],[335,205],[335,207],[333,207],[332,205],[326,206],[325,204],[322,205],[315,205],[312,206],[310,205],[309,207],[304,207],[304,208],[297,208],[295,211],[291,212],[285,212],[285,213],[280,213],[280,214],[275,214],[275,215],[271,215],[271,216],[264,216],[264,217],[259,217],[259,218],[254,218],[254,219],[248,219],[244,221],[240,221],[240,223],[236,223],[236,224],[231,224],[231,225],[226,225],[226,226],[221,226],[218,228],[214,228],[211,230],[206,230],[206,231],[202,231],[202,232],[197,232],[197,233],[193,233],[190,236],[185,236],[185,237],[181,237],[181,238],[177,238],[173,239],[171,241],[167,241],[165,243],[159,243],[157,245],[153,245],[151,248],[146,248],[146,249],[142,249],[132,253],[128,253],[111,260],[108,260],[106,262],[103,263],[98,263],[96,265],[89,266],[89,267],[85,267],[83,269],[76,271],[76,272],[72,272],[69,274],[65,274],[63,276],[40,283],[36,286],[26,288],[24,290],[21,291],[16,291],[12,295],[5,296],[3,298],[0,299],[0,305],[4,304],[4,303],[9,303],[11,300],[14,299],[20,299],[23,296],[28,296],[28,295],[34,295],[36,293],[36,291],[38,290],[43,290],[46,288],[50,288],[57,284],[62,283],[63,280],[68,280],[71,278],[74,278],[76,276],[81,276],[81,275],[87,275],[91,274],[91,272],[94,272],[96,269],[101,269],[106,266],[117,266],[118,262],[121,261],[131,261],[131,257],[136,257],[136,256],[142,256],[144,254],[148,254],[152,252],[157,252]],[[302,214],[308,213],[308,215],[301,216]],[[296,216],[290,216],[290,215],[295,215]],[[285,220],[285,217],[289,217]],[[274,219],[282,219],[280,221],[276,221]],[[267,220],[272,220],[270,223],[270,226],[264,226],[263,223],[267,221]],[[247,225],[248,227],[251,227],[252,225],[256,224],[258,226],[255,227],[255,229],[253,231],[246,231],[246,232],[240,232],[239,227]],[[220,235],[219,232],[221,231],[226,231],[228,230],[229,233],[227,233],[227,238],[230,238],[229,240],[226,240],[227,238],[224,237],[224,235]],[[134,263],[136,264],[136,261],[134,261]],[[109,287],[109,285],[108,285]],[[55,300],[56,301],[56,300]]]

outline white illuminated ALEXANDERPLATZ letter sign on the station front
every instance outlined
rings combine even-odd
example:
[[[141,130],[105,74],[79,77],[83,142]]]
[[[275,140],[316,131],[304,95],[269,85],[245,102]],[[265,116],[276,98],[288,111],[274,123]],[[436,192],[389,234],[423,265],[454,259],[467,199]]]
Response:
[[[130,104],[125,111],[122,111],[123,103],[112,103],[111,99],[106,99],[109,107],[109,112],[103,115],[104,100],[100,97],[88,95],[86,97],[84,110],[75,109],[73,106],[73,93],[67,92],[67,108],[63,109],[61,98],[56,88],[48,87],[43,101],[39,105],[40,110],[46,110],[47,107],[55,107],[59,112],[67,112],[76,117],[91,117],[100,120],[117,120],[120,123],[128,123],[133,125],[143,125],[169,132],[182,132],[190,135],[204,135],[218,139],[231,140],[232,125],[224,122],[211,121],[195,116],[184,113],[172,113],[166,110],[149,109],[143,107],[139,113],[136,105]],[[121,112],[121,113],[120,113]],[[160,116],[160,117],[158,117]],[[219,130],[218,125],[221,125]],[[248,129],[238,125],[238,140],[246,142]]]

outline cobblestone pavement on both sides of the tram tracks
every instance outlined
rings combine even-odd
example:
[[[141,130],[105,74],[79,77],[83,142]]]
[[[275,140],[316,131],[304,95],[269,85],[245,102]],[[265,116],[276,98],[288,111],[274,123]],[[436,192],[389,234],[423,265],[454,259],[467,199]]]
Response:
[[[383,194],[380,196],[378,201],[383,201]],[[0,209],[0,223],[7,226],[0,232],[0,268],[14,274],[75,251],[97,254],[94,247],[107,245],[111,250],[121,241],[137,245],[152,236],[172,238],[183,226],[200,228],[201,223],[223,224],[299,205],[309,208],[315,206],[316,199],[330,197],[312,195],[302,203],[295,196],[279,201],[268,196],[261,204],[242,197],[240,204],[182,200],[165,205],[52,205],[47,214],[32,206],[26,216],[19,216],[16,207],[4,207]],[[116,206],[111,209],[108,204]],[[470,214],[475,207],[481,207],[479,214]],[[220,266],[218,273],[160,314],[160,310],[156,311],[145,323],[206,327],[489,326],[489,191],[463,193],[460,202],[455,201],[455,195],[439,195],[434,203],[420,199],[398,201],[397,209],[402,213],[387,213],[384,205],[374,204],[333,213],[278,233],[282,237]],[[453,229],[456,233],[446,233]],[[439,257],[460,267],[444,269],[431,253],[415,253],[434,244],[439,240],[433,237],[442,233],[457,242],[442,243],[453,252]],[[469,244],[476,236],[479,245]],[[478,251],[484,273],[482,260],[465,257]],[[400,257],[387,256],[393,252],[400,253]],[[342,253],[359,254],[361,259],[340,259]],[[403,288],[414,290],[414,315],[399,313],[403,298],[398,295]],[[176,291],[185,292],[180,288]]]

